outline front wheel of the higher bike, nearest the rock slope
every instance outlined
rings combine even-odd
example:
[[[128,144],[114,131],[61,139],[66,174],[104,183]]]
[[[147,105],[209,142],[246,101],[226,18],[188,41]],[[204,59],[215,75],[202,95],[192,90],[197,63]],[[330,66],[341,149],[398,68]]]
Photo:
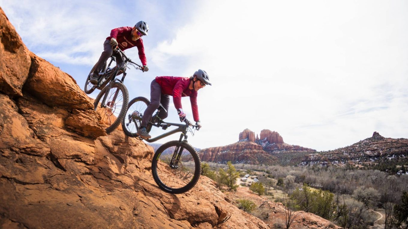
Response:
[[[105,94],[106,100],[104,104],[101,104]],[[128,101],[129,92],[120,82],[113,83],[112,87],[106,86],[96,97],[93,104],[94,109],[101,115],[107,134],[110,134],[119,126],[126,113]]]

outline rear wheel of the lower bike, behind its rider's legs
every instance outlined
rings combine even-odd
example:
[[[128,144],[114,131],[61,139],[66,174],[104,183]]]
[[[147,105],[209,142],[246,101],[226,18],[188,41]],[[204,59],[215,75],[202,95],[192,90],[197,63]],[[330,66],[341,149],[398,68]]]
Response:
[[[137,130],[140,128],[144,111],[149,103],[149,99],[145,97],[136,97],[129,102],[126,113],[122,119],[122,129],[126,136],[138,137]],[[151,124],[148,124],[146,129],[149,132]]]

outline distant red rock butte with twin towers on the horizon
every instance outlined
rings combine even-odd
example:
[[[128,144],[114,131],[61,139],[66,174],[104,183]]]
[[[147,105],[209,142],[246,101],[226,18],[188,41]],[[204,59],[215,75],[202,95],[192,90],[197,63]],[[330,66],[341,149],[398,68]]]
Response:
[[[316,152],[299,145],[286,144],[278,132],[271,130],[262,130],[259,139],[258,135],[255,137],[255,132],[245,129],[239,133],[238,139],[238,142],[230,145],[201,150],[199,154],[202,161],[273,165],[278,162],[278,153]]]

